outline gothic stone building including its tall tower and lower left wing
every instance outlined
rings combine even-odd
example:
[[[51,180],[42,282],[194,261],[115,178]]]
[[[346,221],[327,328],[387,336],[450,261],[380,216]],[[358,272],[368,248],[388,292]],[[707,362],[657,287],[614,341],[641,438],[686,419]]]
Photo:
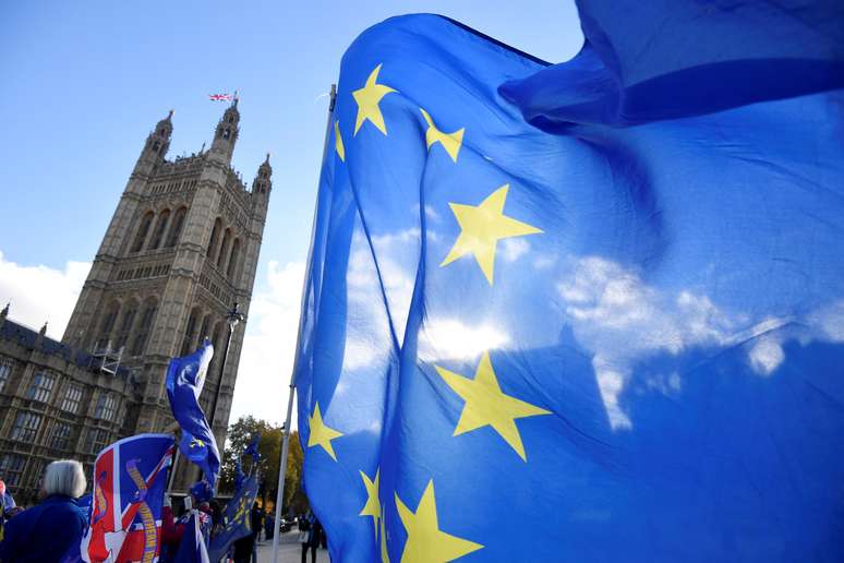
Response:
[[[62,340],[0,314],[0,479],[24,498],[52,459],[88,469],[119,438],[172,431],[167,364],[204,337],[216,351],[200,400],[224,444],[244,330],[221,374],[226,313],[249,311],[272,168],[267,156],[251,190],[231,168],[237,100],[190,157],[165,158],[171,118],[144,144]],[[194,476],[182,467],[177,489]]]

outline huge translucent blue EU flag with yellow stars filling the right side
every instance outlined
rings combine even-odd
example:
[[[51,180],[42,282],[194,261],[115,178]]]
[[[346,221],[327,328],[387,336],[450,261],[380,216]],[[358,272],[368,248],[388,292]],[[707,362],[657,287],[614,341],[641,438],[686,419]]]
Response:
[[[296,371],[334,559],[839,556],[844,98],[810,47],[844,26],[771,28],[816,82],[697,99],[779,13],[744,44],[732,4],[581,5],[556,70],[433,15],[349,48]]]

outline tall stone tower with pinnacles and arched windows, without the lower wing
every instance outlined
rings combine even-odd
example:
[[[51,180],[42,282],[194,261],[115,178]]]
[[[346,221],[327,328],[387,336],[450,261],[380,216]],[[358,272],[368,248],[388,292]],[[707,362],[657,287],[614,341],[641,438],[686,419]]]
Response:
[[[269,155],[248,190],[231,168],[240,112],[222,115],[209,151],[166,158],[172,111],[149,133],[114,211],[62,342],[73,348],[121,352],[140,396],[128,407],[122,434],[161,431],[173,422],[165,390],[170,358],[204,337],[215,345],[201,404],[220,447],[231,409],[244,323],[233,333],[226,373],[220,356],[226,313],[249,312],[272,191]]]

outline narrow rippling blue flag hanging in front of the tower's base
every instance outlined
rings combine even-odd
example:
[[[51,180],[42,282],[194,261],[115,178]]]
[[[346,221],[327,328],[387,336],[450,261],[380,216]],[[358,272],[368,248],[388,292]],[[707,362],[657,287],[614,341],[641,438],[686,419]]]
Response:
[[[190,356],[173,358],[167,368],[167,396],[173,418],[182,429],[179,450],[202,468],[212,491],[220,472],[220,454],[210,424],[200,406],[205,375],[214,356],[208,340]]]

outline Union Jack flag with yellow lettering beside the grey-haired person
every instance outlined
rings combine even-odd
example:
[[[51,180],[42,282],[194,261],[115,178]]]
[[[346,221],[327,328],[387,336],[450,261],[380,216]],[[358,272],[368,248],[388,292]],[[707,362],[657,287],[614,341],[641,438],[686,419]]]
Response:
[[[83,561],[158,561],[167,467],[174,450],[169,434],[138,434],[99,453],[91,526],[80,546]]]

